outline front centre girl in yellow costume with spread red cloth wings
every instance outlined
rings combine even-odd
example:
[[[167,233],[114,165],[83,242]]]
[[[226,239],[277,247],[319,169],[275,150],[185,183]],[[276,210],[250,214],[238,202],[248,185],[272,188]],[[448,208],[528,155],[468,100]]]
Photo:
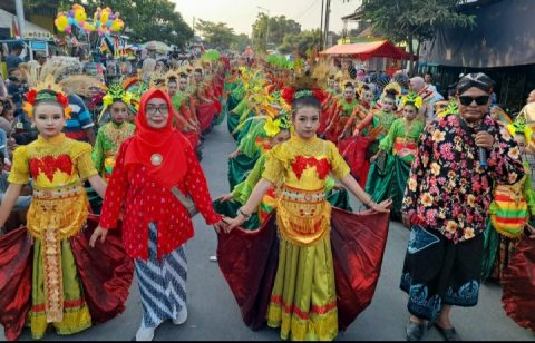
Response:
[[[296,341],[335,339],[339,329],[344,330],[369,303],[382,258],[390,205],[389,200],[373,203],[350,175],[334,144],[317,137],[323,97],[322,91],[308,89],[283,90],[283,97],[292,104],[295,134],[269,153],[262,179],[237,210],[237,217],[228,223],[227,231],[250,218],[266,192],[280,184],[275,214],[254,234],[234,229],[231,235],[220,235],[217,251],[220,267],[242,307],[245,323],[259,329],[266,321],[271,327],[281,327],[282,339]],[[324,192],[329,174],[362,203],[382,213],[331,213]],[[367,224],[370,219],[373,225]],[[350,229],[348,235],[339,232],[344,227]],[[370,231],[374,235],[369,235]],[[339,243],[353,239],[359,241],[359,252],[338,249]],[[366,264],[348,266],[348,261],[359,259],[348,253],[367,254],[369,258]],[[334,276],[335,270],[341,271],[339,263],[348,266],[351,275],[341,272]],[[359,282],[363,277],[369,281],[364,287]]]

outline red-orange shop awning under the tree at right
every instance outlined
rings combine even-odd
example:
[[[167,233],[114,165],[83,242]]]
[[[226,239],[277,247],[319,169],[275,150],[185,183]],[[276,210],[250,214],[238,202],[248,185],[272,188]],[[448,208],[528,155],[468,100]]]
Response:
[[[410,53],[396,47],[389,40],[358,42],[352,45],[338,45],[320,52],[322,56],[351,57],[366,61],[372,57],[391,59],[409,59]]]

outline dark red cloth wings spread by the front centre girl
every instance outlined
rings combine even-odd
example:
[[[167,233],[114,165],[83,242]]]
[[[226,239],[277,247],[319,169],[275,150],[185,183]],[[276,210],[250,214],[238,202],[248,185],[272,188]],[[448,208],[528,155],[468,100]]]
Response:
[[[389,214],[332,209],[331,246],[339,329],[344,331],[371,302],[387,244]],[[265,315],[279,263],[275,212],[256,231],[220,234],[217,261],[242,318],[252,330]]]

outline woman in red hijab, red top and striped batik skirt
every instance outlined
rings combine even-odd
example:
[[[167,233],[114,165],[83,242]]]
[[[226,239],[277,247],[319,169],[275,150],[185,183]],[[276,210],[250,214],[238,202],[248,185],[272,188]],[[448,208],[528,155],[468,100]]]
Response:
[[[90,244],[117,226],[124,208],[123,242],[134,258],[143,303],[137,341],[150,341],[164,321],[187,318],[184,243],[194,235],[192,219],[172,194],[189,195],[206,224],[218,231],[222,218],[212,208],[206,179],[187,139],[173,128],[171,99],[162,90],[142,97],[136,133],[125,140],[109,179],[100,226]]]

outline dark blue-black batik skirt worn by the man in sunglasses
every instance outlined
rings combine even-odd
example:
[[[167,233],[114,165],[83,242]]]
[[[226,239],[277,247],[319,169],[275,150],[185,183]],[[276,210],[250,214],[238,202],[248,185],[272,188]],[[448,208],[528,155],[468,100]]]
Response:
[[[444,305],[475,306],[483,243],[483,235],[477,235],[454,244],[437,231],[414,225],[400,285],[409,294],[409,312],[432,325]]]

